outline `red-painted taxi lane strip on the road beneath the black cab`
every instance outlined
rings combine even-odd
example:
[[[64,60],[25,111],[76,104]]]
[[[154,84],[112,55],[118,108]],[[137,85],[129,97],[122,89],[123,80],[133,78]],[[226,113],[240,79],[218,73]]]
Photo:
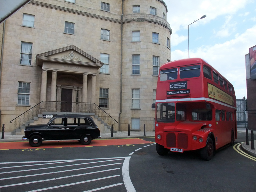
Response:
[[[0,142],[0,150],[8,149],[37,149],[37,148],[62,148],[62,147],[92,147],[109,145],[134,145],[134,144],[152,144],[154,142],[145,141],[140,138],[129,139],[101,139],[92,140],[90,145],[81,145],[78,141],[43,141],[40,147],[31,147],[27,141]]]

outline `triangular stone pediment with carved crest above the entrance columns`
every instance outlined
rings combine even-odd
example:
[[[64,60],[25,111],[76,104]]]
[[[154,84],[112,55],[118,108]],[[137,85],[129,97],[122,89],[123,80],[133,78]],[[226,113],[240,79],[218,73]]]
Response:
[[[95,66],[100,68],[103,63],[78,47],[71,45],[36,55],[36,64],[43,62],[69,63],[76,65]]]

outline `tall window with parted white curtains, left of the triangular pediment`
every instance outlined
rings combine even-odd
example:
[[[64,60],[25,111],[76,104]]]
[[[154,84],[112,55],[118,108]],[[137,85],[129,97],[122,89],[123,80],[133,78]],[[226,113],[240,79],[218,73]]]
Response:
[[[31,65],[33,43],[21,42],[20,64]]]

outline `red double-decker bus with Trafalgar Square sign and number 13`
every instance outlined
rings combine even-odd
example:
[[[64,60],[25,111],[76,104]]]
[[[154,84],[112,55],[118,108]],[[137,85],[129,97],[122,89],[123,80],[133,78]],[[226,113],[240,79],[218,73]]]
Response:
[[[152,108],[159,155],[200,150],[209,161],[215,150],[237,138],[234,88],[203,59],[162,65]]]

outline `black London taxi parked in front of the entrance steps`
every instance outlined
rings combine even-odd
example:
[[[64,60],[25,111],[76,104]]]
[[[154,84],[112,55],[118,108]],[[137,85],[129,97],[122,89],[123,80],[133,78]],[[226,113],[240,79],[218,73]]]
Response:
[[[66,114],[53,116],[47,124],[26,126],[23,140],[38,147],[46,140],[78,140],[82,145],[89,145],[97,138],[100,138],[100,130],[90,116]]]

